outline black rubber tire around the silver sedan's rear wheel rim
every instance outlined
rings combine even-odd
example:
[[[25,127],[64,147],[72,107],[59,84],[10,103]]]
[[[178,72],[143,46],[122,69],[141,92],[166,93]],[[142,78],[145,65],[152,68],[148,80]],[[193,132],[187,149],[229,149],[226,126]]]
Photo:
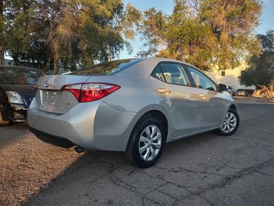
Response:
[[[162,136],[162,144],[155,158],[150,161],[145,161],[144,159],[142,159],[139,152],[139,140],[145,128],[151,125],[155,125],[159,128]],[[132,130],[132,133],[129,137],[129,142],[127,144],[127,149],[125,151],[125,157],[127,161],[129,161],[129,163],[138,165],[138,167],[140,168],[149,168],[152,165],[154,165],[156,161],[158,161],[158,159],[160,158],[162,154],[162,150],[164,149],[165,141],[166,141],[166,134],[164,133],[164,129],[160,121],[153,117],[144,117],[137,122],[136,126],[134,126],[134,129]]]

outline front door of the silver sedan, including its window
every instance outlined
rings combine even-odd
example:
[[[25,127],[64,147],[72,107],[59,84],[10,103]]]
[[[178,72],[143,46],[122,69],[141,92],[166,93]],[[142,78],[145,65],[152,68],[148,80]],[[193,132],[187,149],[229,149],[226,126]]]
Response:
[[[201,122],[199,125],[202,130],[208,130],[221,126],[225,117],[225,98],[210,78],[198,69],[185,66],[194,82],[195,90],[199,93],[201,106]]]

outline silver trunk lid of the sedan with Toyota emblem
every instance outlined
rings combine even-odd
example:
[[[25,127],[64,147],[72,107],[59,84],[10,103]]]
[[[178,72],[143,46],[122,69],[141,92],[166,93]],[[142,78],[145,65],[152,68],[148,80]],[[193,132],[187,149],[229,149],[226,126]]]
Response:
[[[66,84],[86,82],[90,76],[51,75],[42,76],[37,82],[36,106],[40,111],[63,114],[79,102],[73,93],[62,91]]]

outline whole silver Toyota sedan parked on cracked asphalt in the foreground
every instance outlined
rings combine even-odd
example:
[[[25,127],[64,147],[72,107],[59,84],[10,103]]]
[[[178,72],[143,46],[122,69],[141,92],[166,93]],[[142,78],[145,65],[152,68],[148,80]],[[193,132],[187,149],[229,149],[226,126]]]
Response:
[[[240,121],[229,93],[196,67],[166,58],[43,76],[27,118],[49,144],[123,151],[141,168],[158,161],[166,142],[209,130],[232,135]]]

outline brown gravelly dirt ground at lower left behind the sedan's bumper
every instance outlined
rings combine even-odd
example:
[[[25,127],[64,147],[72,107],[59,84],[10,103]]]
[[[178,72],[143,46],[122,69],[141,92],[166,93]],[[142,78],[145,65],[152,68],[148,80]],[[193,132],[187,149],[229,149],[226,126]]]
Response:
[[[81,156],[43,143],[26,123],[1,127],[0,139],[0,205],[25,203]]]

